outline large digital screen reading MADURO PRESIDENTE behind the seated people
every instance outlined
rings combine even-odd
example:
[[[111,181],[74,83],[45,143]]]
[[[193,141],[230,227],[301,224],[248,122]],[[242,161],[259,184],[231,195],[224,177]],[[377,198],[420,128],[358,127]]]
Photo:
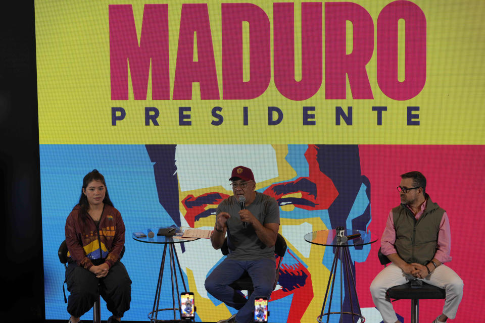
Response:
[[[85,174],[105,176],[126,227],[132,301],[123,319],[147,321],[163,245],[132,233],[212,230],[231,170],[244,165],[256,190],[278,201],[288,246],[269,321],[315,321],[334,254],[303,236],[339,225],[378,240],[350,255],[362,314],[382,321],[369,286],[400,175],[414,170],[450,219],[447,265],[465,284],[455,321],[480,321],[483,15],[485,4],[471,0],[36,1],[46,319],[68,317],[57,250]],[[176,250],[196,321],[235,313],[204,288],[220,250],[208,239]],[[164,277],[163,308],[172,306]],[[340,299],[340,273],[335,284]],[[443,303],[423,302],[421,320]],[[409,320],[408,301],[394,308]],[[102,301],[102,319],[110,315]]]

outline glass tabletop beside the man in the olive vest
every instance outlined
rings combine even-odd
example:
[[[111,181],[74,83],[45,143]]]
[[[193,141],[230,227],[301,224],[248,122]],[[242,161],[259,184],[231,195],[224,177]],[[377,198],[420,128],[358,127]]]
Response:
[[[354,235],[357,235],[357,238],[350,239],[352,237],[355,237]],[[362,245],[374,243],[377,241],[377,238],[372,237],[370,232],[365,232],[362,230],[345,229],[345,236],[349,237],[349,239],[347,240],[346,238],[337,237],[337,231],[335,229],[331,229],[331,230],[320,230],[320,231],[307,233],[304,236],[304,239],[307,242],[310,242],[313,244],[318,244],[321,246],[334,246],[334,247],[362,246]]]

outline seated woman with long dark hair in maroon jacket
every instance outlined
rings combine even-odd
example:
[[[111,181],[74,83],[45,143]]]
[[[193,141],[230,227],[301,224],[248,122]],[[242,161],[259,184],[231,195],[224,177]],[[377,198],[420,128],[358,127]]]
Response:
[[[113,313],[108,323],[118,322],[131,301],[131,280],[120,262],[125,225],[98,170],[84,176],[79,203],[69,214],[65,230],[71,257],[66,271],[70,323],[80,320],[98,293]]]

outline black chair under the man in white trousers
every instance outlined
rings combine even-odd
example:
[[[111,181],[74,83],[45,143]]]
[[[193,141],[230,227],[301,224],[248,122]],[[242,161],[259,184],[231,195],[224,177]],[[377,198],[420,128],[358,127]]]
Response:
[[[391,260],[387,256],[380,252],[377,253],[379,261],[382,265],[390,263]],[[423,282],[423,286],[416,288],[411,287],[411,282],[403,285],[398,285],[391,287],[387,290],[387,296],[389,298],[394,298],[394,301],[399,299],[410,299],[411,300],[411,323],[419,322],[419,300],[420,299],[443,299],[446,298],[446,290],[429,285]]]

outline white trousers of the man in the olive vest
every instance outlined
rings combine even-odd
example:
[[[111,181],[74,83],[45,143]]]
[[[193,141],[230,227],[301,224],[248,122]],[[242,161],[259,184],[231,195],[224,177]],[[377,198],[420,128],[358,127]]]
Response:
[[[404,274],[401,268],[391,263],[377,274],[372,284],[370,284],[370,293],[372,294],[375,307],[379,310],[385,323],[395,323],[398,320],[393,304],[389,298],[386,298],[387,289],[405,284],[412,279],[414,279],[412,275]],[[441,264],[426,278],[419,280],[446,290],[443,314],[448,318],[455,318],[458,305],[463,296],[463,281],[461,278],[450,267]]]

